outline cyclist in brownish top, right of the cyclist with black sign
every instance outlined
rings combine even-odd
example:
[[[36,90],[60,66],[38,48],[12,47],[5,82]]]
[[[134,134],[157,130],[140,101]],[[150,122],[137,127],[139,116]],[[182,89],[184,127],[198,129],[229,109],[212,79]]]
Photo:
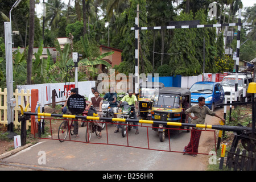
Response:
[[[94,96],[95,97],[91,98],[90,104],[86,107],[86,109],[89,109],[90,106],[93,105],[93,107],[98,111],[98,114],[101,115],[102,114],[101,106],[103,104],[103,98],[100,97],[98,90],[94,91]],[[102,124],[99,121],[97,121],[97,122],[95,122],[95,125],[98,126],[98,131],[100,132],[100,134],[98,135],[98,138],[101,138],[102,137],[102,135],[101,135]]]

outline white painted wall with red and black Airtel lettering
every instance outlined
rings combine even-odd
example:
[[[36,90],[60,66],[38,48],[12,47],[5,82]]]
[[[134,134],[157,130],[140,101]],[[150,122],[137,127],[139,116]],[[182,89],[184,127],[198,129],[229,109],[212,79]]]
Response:
[[[91,88],[95,86],[95,81],[80,81],[78,82],[79,94],[84,97],[88,97],[91,93]],[[57,84],[36,84],[36,85],[17,85],[17,89],[24,90],[26,92],[27,89],[31,91],[31,89],[38,89],[39,101],[42,106],[45,104],[52,103],[52,90],[56,90],[55,101],[65,101],[67,96],[70,95],[70,90],[75,88],[75,82],[66,83],[57,83]],[[61,104],[61,103],[59,103]]]

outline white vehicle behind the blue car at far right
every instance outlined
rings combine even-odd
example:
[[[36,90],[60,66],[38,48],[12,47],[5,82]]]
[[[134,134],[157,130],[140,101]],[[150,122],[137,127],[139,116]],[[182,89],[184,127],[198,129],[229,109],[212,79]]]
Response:
[[[251,73],[238,73],[238,101],[242,101],[243,89],[245,89],[246,97],[251,97],[251,94],[247,93],[248,85],[253,82],[253,77]],[[230,92],[232,90],[232,101],[235,101],[235,83],[236,83],[236,73],[229,73],[221,81],[221,85],[225,92],[225,97],[227,101],[230,102]]]

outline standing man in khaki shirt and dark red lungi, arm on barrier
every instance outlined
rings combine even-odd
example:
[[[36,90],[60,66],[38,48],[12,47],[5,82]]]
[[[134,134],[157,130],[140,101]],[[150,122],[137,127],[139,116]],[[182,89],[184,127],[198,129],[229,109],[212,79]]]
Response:
[[[192,124],[200,124],[204,125],[205,117],[207,114],[215,116],[217,118],[220,118],[222,121],[225,121],[224,118],[221,118],[216,113],[214,113],[212,110],[210,110],[207,106],[205,106],[205,98],[199,97],[198,98],[198,105],[192,106],[185,110],[185,113],[188,114],[189,117],[192,118],[191,123]],[[192,117],[190,113],[193,113],[195,116]],[[194,127],[191,131],[191,138],[190,142],[188,143],[188,146],[184,148],[183,154],[189,153],[192,156],[196,156],[198,153],[198,147],[199,147],[199,140],[201,137],[201,130],[202,128]]]

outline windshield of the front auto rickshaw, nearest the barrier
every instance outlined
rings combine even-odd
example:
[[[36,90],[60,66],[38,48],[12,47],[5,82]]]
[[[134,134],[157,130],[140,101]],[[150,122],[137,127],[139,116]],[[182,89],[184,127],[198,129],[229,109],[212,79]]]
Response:
[[[166,109],[180,108],[180,97],[171,94],[159,94],[158,99],[154,102],[154,107]]]

